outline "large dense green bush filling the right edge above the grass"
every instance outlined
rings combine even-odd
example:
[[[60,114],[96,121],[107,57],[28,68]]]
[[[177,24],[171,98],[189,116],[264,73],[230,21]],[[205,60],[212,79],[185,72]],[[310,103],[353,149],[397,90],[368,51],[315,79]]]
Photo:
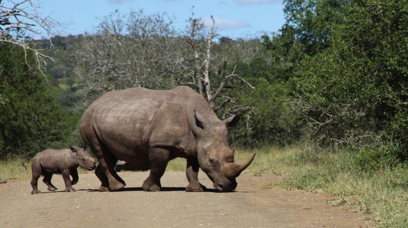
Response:
[[[332,45],[296,70],[297,108],[323,145],[392,141],[408,158],[407,4],[351,1]]]

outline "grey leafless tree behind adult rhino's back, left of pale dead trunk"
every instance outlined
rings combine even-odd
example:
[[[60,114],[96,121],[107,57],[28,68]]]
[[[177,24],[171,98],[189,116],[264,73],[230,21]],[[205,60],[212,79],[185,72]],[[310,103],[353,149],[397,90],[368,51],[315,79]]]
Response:
[[[185,49],[167,14],[128,16],[114,12],[104,17],[95,35],[75,47],[80,89],[89,103],[106,91],[129,87],[170,89],[185,69]]]

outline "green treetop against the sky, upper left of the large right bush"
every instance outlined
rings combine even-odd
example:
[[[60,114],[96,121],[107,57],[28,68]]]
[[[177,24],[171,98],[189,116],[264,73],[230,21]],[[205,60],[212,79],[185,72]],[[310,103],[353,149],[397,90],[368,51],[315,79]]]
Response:
[[[271,56],[271,72],[281,80],[293,76],[297,64],[331,44],[333,27],[342,23],[343,0],[285,0],[286,22],[278,33],[261,37]]]

